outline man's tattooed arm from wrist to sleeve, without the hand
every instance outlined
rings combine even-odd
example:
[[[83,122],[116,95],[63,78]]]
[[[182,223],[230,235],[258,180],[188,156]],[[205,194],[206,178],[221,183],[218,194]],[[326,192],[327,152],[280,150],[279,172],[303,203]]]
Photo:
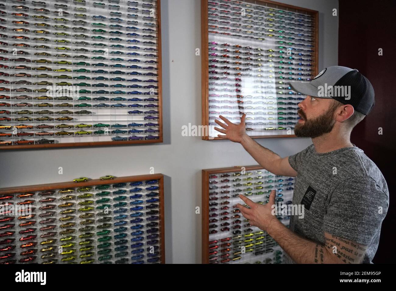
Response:
[[[366,246],[345,240],[325,232],[324,245],[295,234],[279,221],[272,223],[267,232],[300,264],[359,264],[366,253]]]

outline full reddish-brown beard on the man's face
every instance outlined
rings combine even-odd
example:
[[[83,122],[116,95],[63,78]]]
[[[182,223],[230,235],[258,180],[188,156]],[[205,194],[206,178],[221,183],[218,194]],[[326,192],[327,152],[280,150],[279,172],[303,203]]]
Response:
[[[304,122],[297,124],[294,127],[294,134],[297,137],[320,137],[325,133],[329,133],[335,124],[333,113],[336,108],[330,107],[327,112],[314,119],[307,120],[307,116],[302,112],[301,108],[297,111],[303,117]]]

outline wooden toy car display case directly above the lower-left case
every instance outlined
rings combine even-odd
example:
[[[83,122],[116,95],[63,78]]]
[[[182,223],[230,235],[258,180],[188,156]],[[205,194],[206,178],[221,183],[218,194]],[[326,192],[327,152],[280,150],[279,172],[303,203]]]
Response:
[[[0,4],[0,148],[158,143],[160,0]]]

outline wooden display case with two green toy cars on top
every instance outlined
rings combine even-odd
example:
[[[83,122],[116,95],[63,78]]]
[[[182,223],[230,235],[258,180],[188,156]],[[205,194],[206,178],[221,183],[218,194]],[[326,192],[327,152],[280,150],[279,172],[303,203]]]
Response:
[[[0,189],[0,264],[165,263],[164,176]]]

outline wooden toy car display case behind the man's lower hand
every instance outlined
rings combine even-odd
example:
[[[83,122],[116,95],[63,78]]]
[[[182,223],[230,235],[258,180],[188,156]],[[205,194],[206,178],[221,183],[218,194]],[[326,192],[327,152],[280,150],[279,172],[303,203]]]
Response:
[[[239,194],[266,204],[271,190],[276,204],[289,204],[294,178],[274,175],[260,165],[202,170],[202,263],[280,264],[283,250],[235,207]],[[246,205],[245,205],[246,206]],[[277,215],[289,226],[289,215]]]

